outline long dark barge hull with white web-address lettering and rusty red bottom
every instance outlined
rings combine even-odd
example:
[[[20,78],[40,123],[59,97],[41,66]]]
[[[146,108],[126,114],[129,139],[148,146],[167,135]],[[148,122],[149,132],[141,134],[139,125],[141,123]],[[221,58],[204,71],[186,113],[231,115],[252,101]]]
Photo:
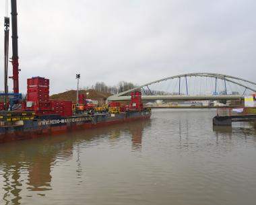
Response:
[[[0,127],[0,143],[25,140],[42,136],[53,136],[76,130],[87,130],[150,119],[151,113],[131,112],[120,114],[96,114],[94,116],[72,116],[71,118],[39,118],[24,121],[21,125]]]

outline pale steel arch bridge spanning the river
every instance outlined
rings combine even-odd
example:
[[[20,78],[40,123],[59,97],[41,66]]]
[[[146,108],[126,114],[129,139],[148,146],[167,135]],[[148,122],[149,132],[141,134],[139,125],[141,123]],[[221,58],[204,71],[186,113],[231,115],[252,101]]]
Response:
[[[146,83],[108,97],[108,101],[130,100],[131,91],[141,91],[143,100],[244,99],[256,93],[256,83],[218,73],[187,73]]]

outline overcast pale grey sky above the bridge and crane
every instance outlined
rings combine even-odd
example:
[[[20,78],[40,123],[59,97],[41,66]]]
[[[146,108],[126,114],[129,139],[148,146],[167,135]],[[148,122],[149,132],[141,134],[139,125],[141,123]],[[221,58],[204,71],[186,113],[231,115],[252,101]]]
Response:
[[[75,89],[75,73],[82,86],[193,72],[256,81],[256,1],[17,1],[22,92],[38,75],[50,79],[51,93]],[[3,30],[0,39],[3,62]]]

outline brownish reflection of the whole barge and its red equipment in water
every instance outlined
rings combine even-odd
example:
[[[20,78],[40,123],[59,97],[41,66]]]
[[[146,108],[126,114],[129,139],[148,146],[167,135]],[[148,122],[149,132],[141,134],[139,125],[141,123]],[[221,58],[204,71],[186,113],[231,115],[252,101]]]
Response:
[[[51,173],[61,161],[76,158],[77,179],[80,179],[83,173],[81,145],[86,145],[86,142],[106,136],[109,140],[117,140],[125,132],[130,133],[132,149],[140,149],[146,126],[150,126],[150,120],[0,145],[0,177],[3,177],[3,181],[0,178],[0,193],[3,192],[3,202],[21,204],[20,200],[24,196],[32,197],[30,193],[33,192],[44,196],[46,191],[53,189]],[[73,155],[74,150],[76,155]],[[21,194],[23,190],[26,194]]]

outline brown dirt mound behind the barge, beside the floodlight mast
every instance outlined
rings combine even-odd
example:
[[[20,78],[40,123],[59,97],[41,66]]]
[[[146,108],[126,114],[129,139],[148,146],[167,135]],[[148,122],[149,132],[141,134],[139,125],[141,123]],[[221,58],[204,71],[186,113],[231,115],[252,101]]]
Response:
[[[94,89],[88,89],[88,90],[79,90],[79,93],[83,93],[86,95],[86,99],[93,99],[98,100],[99,104],[103,104],[107,97],[109,97],[110,93],[104,93],[100,91],[96,91]],[[88,93],[88,94],[86,94]],[[76,103],[76,91],[70,90],[65,91],[63,93],[51,95],[51,99],[62,99],[62,100],[71,100],[73,104]]]

